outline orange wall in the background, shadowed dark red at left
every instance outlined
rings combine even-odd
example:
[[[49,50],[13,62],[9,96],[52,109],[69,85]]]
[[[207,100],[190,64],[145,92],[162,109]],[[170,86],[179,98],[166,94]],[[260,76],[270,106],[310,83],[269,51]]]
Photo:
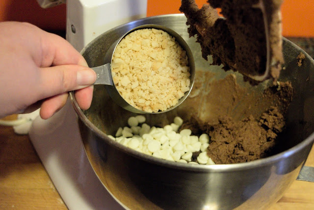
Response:
[[[201,7],[206,0],[196,0]],[[148,0],[147,16],[179,13],[181,0]],[[285,0],[283,35],[314,37],[314,1]],[[65,30],[64,4],[42,9],[36,0],[0,0],[0,21],[26,21],[45,30]]]

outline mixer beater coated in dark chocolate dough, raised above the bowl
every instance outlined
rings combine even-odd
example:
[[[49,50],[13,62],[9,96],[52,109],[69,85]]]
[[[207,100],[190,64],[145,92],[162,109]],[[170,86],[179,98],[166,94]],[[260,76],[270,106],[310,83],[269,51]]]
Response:
[[[201,9],[194,0],[182,0],[190,36],[197,36],[202,56],[213,65],[224,65],[256,84],[269,78],[276,82],[282,68],[282,0],[208,0]],[[219,17],[215,8],[221,8]],[[266,62],[270,69],[267,69]]]

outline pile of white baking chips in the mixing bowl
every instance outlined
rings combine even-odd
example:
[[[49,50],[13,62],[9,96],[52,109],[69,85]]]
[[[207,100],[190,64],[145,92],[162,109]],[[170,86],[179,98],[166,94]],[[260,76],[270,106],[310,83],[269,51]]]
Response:
[[[158,158],[189,164],[215,164],[207,155],[209,135],[191,135],[190,129],[179,128],[183,124],[180,117],[163,128],[150,126],[145,123],[142,115],[128,120],[130,127],[119,127],[115,136],[109,138],[131,149],[153,155]]]

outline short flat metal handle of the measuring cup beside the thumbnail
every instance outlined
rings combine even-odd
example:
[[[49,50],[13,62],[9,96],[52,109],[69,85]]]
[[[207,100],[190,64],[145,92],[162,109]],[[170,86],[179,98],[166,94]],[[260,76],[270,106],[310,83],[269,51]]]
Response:
[[[111,85],[113,86],[110,63],[92,68],[96,73],[96,82],[94,85]]]

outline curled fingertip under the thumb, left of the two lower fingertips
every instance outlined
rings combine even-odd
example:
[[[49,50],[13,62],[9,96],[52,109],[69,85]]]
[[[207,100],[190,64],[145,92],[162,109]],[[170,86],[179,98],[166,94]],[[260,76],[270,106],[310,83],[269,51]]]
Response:
[[[66,92],[45,99],[40,107],[40,117],[44,120],[51,118],[66,104],[68,96],[69,94]]]

